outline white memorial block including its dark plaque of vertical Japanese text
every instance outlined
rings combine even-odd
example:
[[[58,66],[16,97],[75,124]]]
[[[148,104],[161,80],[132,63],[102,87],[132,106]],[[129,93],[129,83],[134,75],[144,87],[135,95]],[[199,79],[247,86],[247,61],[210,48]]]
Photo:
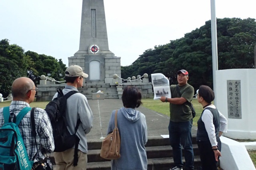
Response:
[[[233,139],[256,139],[256,69],[216,71],[218,110],[228,119],[224,136]]]

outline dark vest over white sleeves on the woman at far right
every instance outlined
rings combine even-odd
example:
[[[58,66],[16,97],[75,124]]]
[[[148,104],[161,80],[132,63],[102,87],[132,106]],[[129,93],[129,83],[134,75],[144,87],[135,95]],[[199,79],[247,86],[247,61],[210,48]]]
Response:
[[[213,125],[215,127],[215,135],[216,137],[219,135],[220,131],[220,115],[218,109],[213,109],[210,107],[207,107],[209,111],[211,111],[213,115]],[[196,140],[197,141],[207,141],[209,140],[208,133],[206,131],[204,122],[202,121],[202,115],[204,114],[204,111],[202,111],[202,114],[200,118],[197,121],[197,134],[196,134]]]

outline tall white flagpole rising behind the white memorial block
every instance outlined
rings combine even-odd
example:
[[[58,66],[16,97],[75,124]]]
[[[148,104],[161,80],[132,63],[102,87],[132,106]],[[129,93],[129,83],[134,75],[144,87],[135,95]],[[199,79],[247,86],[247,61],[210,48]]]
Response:
[[[217,49],[217,26],[216,26],[215,0],[211,0],[211,30],[212,30],[212,77],[213,77],[213,89],[215,93],[214,105],[216,105],[216,100],[217,100],[216,70],[218,70],[218,49]]]

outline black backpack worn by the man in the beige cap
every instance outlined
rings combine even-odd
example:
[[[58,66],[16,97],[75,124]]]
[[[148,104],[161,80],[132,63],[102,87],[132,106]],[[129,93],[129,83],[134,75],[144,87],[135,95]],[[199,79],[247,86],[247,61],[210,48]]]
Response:
[[[68,97],[78,93],[78,91],[70,91],[66,95],[63,94],[62,89],[57,88],[58,97],[50,101],[46,108],[44,109],[51,121],[54,145],[54,152],[63,152],[67,149],[72,148],[75,145],[75,154],[74,154],[74,164],[77,166],[78,162],[78,143],[80,138],[76,136],[78,126],[80,124],[80,119],[76,123],[75,133],[70,134],[68,131],[68,123],[66,119],[66,102]]]

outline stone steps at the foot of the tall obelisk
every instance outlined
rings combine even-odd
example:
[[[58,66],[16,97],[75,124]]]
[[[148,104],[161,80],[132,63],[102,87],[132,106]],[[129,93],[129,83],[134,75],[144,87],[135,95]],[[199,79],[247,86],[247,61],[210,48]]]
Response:
[[[85,95],[88,100],[92,99],[92,93],[99,90],[103,91],[104,99],[118,99],[116,86],[112,86],[110,83],[90,81],[84,83],[82,88],[78,88],[78,91]]]

